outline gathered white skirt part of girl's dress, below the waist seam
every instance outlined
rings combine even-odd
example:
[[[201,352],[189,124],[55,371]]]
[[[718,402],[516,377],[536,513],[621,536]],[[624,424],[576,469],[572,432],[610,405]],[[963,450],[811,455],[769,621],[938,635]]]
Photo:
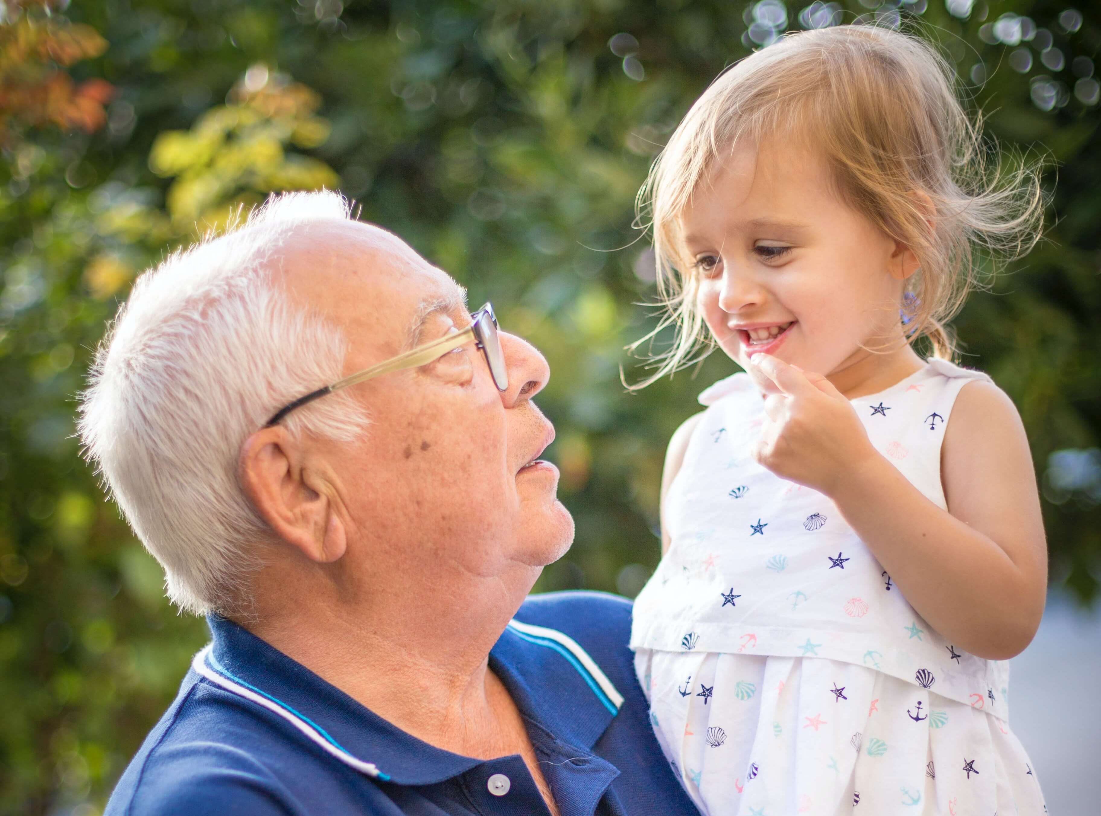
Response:
[[[978,701],[825,657],[635,661],[662,750],[707,816],[1047,813],[1017,738]]]

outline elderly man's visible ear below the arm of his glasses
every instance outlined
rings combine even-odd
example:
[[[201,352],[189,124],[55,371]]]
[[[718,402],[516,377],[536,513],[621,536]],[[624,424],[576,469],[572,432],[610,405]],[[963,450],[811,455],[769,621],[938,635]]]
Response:
[[[238,479],[277,538],[327,564],[345,554],[347,530],[331,498],[334,485],[305,459],[302,445],[285,428],[261,428],[241,445]]]

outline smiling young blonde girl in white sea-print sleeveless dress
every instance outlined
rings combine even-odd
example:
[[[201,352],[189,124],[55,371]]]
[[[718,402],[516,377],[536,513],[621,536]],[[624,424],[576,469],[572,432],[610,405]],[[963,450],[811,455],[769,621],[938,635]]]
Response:
[[[641,198],[678,333],[657,376],[705,334],[746,371],[669,444],[631,642],[709,816],[1046,809],[1007,721],[1045,599],[1032,457],[942,328],[972,246],[1027,252],[1045,196],[988,172],[953,76],[889,29],[786,36],[708,88]]]

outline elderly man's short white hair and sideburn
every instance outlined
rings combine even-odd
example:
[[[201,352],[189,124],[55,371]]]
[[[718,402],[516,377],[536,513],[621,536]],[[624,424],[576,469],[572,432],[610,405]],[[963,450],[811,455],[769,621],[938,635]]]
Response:
[[[241,444],[282,405],[342,376],[341,329],[272,280],[292,232],[350,220],[337,193],[272,197],[247,222],[143,273],[100,344],[79,436],[185,611],[248,614],[272,533],[237,478]],[[283,426],[350,442],[368,417],[335,393]]]

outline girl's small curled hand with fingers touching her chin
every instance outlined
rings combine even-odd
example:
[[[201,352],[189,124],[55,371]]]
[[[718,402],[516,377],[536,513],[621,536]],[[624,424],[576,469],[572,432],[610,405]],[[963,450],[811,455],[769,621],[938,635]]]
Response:
[[[751,366],[780,391],[765,398],[767,420],[750,447],[759,465],[832,496],[841,479],[879,456],[852,404],[825,377],[771,355],[754,355]]]

